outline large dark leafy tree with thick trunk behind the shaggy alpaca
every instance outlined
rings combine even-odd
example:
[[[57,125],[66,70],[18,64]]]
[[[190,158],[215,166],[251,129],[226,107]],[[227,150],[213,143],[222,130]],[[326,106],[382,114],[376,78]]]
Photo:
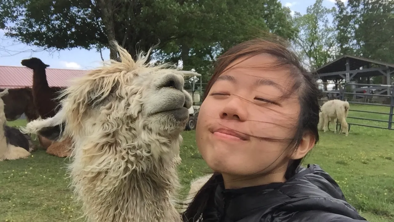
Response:
[[[45,48],[99,50],[115,40],[133,56],[160,42],[156,59],[190,69],[260,29],[292,38],[287,13],[277,0],[1,0],[0,28]]]

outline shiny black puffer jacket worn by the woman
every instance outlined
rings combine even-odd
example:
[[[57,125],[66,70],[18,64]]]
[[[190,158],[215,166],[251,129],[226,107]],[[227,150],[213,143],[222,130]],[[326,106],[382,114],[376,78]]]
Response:
[[[346,202],[335,180],[316,164],[299,167],[296,175],[283,183],[225,189],[222,182],[216,187],[213,205],[208,211],[216,219],[206,216],[204,222],[239,221],[251,215],[261,218],[278,209],[286,212],[313,209],[362,219]]]

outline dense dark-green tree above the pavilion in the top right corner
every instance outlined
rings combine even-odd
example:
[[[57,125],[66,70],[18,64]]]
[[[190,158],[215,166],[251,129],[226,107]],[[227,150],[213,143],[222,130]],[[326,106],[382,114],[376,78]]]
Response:
[[[394,3],[392,0],[336,2],[338,42],[342,53],[394,63]],[[382,76],[374,83],[386,84]]]

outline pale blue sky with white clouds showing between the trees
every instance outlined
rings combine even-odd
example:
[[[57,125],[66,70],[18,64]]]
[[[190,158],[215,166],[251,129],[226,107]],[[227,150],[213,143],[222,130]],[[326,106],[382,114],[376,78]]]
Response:
[[[347,0],[341,0],[347,2]],[[305,14],[307,7],[314,4],[315,0],[280,0],[282,5],[289,7],[292,12],[298,11]],[[335,0],[324,0],[323,6],[331,8],[335,6]],[[5,50],[4,50],[5,49]],[[4,30],[0,29],[0,66],[21,66],[22,59],[37,57],[50,68],[88,70],[100,65],[100,53],[95,49],[71,49],[55,52],[37,51],[39,48],[28,46],[4,36]],[[11,55],[9,54],[11,53]],[[108,49],[102,51],[104,60],[109,59]]]

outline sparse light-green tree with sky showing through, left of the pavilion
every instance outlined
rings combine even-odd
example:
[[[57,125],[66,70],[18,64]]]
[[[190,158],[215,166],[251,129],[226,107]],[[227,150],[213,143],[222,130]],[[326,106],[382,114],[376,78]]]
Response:
[[[310,70],[329,62],[338,53],[335,26],[328,19],[328,15],[336,9],[325,8],[322,3],[323,0],[316,0],[307,8],[305,15],[299,12],[294,14],[294,24],[299,29],[295,47],[308,60]]]

